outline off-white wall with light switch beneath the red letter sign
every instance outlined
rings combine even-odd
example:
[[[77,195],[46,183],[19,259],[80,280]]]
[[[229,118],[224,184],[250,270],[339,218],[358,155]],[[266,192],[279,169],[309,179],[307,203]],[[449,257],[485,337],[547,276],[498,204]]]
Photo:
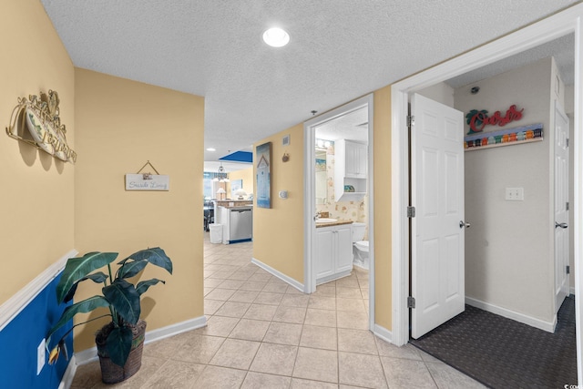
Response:
[[[554,319],[551,229],[552,58],[455,89],[455,108],[503,114],[523,108],[505,128],[543,123],[541,142],[465,152],[465,293],[542,322]],[[554,103],[553,103],[554,104]],[[488,126],[487,130],[499,129]],[[469,127],[465,125],[465,133]],[[524,201],[506,201],[506,188],[524,188]]]

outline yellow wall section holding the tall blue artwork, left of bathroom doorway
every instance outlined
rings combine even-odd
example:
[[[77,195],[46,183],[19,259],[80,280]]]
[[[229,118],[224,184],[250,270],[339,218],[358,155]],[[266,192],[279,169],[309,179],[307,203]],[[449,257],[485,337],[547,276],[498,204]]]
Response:
[[[281,138],[285,135],[291,136],[291,142],[290,146],[283,147]],[[253,146],[257,148],[265,142],[271,142],[271,209],[257,207],[255,196],[253,258],[303,282],[303,124]],[[288,162],[281,160],[284,152],[290,155]],[[254,165],[253,177],[256,168]],[[280,190],[288,190],[287,200],[279,198]]]

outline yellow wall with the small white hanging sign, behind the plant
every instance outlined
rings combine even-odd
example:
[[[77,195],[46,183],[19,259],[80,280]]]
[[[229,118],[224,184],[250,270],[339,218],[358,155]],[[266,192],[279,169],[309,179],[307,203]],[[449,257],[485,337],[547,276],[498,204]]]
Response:
[[[75,76],[77,250],[117,251],[123,259],[161,247],[174,274],[150,267],[141,275],[167,282],[144,295],[147,330],[202,316],[204,99],[83,69]],[[169,175],[169,191],[126,191],[124,175],[148,160]],[[95,287],[83,292],[89,296]],[[99,324],[79,327],[76,351],[95,345]]]

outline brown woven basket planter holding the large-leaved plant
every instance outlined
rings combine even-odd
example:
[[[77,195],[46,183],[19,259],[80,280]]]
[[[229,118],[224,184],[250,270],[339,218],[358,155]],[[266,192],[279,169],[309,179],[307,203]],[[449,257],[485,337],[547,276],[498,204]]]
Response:
[[[105,350],[105,340],[113,328],[113,323],[108,323],[96,334],[97,355],[101,365],[101,380],[104,384],[116,384],[127,380],[132,375],[138,373],[142,365],[142,350],[144,348],[144,334],[146,333],[146,322],[140,320],[138,324],[132,327],[134,335],[131,343],[128,361],[124,367],[118,366],[111,362]]]

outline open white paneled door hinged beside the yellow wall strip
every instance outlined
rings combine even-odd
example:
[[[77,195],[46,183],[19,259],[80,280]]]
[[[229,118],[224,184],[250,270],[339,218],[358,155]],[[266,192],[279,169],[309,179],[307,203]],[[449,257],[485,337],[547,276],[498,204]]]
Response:
[[[414,339],[464,312],[464,114],[411,99],[411,314]]]

